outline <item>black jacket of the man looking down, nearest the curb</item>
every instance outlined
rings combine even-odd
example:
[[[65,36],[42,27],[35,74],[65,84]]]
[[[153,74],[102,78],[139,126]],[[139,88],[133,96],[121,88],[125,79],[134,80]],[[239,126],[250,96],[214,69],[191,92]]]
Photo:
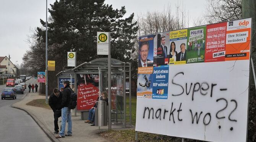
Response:
[[[55,96],[54,93],[50,95],[49,106],[52,108],[53,112],[62,109],[62,92],[60,92],[59,97]]]

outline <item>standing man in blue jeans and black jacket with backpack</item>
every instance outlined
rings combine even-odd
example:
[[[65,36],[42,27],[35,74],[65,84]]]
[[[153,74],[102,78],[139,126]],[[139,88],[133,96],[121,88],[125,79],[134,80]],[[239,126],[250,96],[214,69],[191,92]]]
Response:
[[[62,96],[62,126],[60,129],[60,135],[56,138],[63,138],[65,136],[72,136],[72,120],[71,109],[68,108],[70,102],[70,94],[72,89],[68,80],[64,81],[64,91]],[[68,122],[68,132],[65,134],[66,122]]]

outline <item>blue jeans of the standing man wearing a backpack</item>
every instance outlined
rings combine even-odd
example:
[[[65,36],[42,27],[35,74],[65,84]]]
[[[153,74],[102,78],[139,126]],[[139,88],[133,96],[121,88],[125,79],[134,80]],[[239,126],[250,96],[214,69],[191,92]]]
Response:
[[[62,108],[62,125],[60,130],[60,136],[65,136],[66,121],[68,122],[68,135],[72,135],[72,120],[71,111],[68,107]]]

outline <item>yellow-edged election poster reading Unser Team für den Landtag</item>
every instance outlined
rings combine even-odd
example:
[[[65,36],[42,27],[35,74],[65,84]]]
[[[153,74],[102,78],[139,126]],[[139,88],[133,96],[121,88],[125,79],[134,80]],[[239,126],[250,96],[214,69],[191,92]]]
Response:
[[[169,65],[186,63],[187,29],[170,32]]]

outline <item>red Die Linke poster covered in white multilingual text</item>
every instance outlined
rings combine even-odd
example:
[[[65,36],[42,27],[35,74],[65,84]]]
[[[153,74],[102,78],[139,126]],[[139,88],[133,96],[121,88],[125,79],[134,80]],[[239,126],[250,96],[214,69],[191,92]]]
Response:
[[[225,61],[227,22],[207,25],[206,29],[204,62]]]

